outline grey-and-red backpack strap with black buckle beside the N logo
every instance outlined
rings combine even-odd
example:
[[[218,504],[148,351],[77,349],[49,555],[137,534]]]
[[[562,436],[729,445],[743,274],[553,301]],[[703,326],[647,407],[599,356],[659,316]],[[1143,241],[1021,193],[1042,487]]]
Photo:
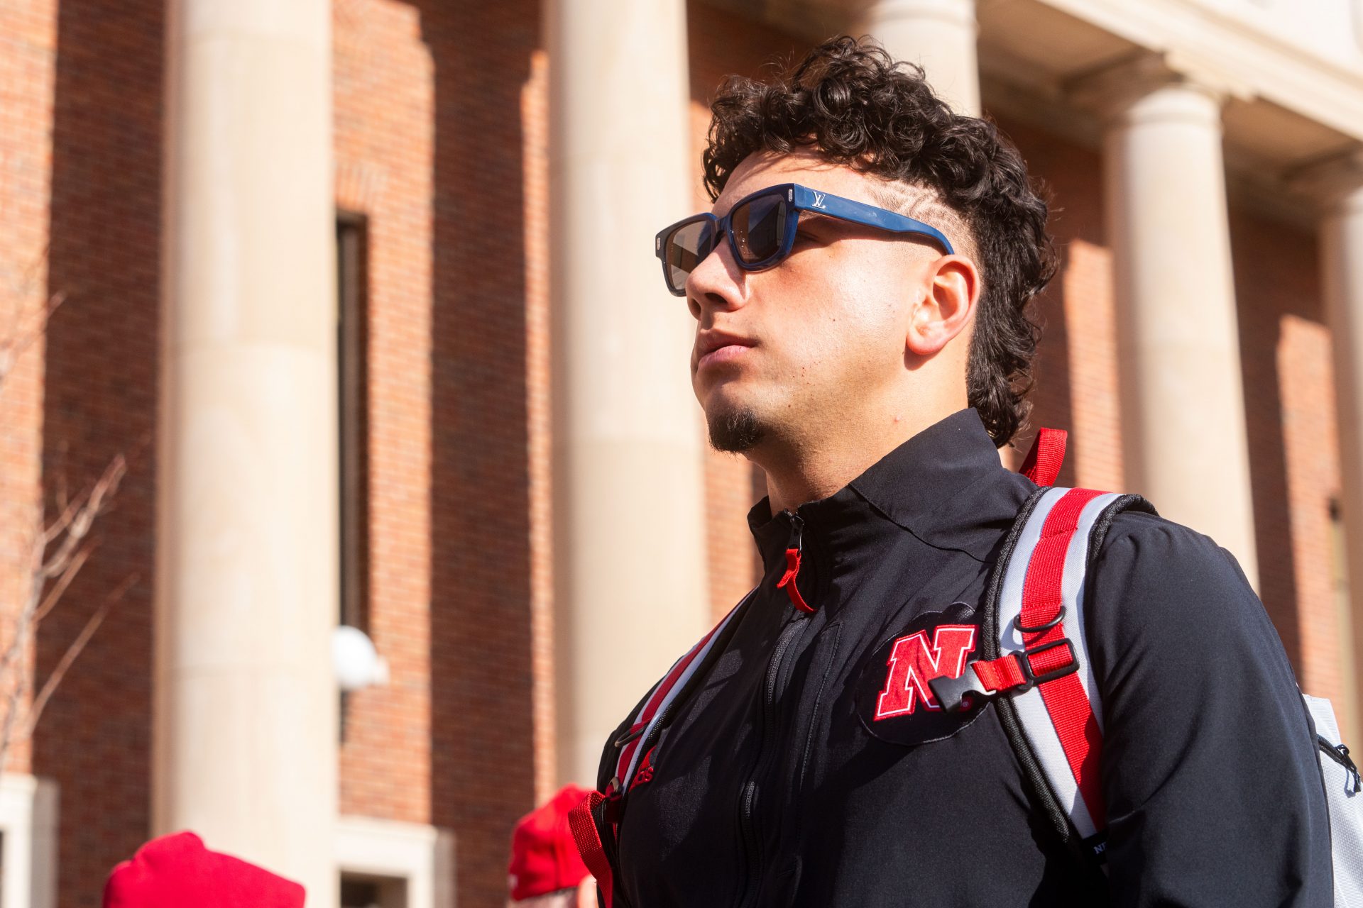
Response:
[[[1153,512],[1139,496],[1037,489],[995,565],[984,658],[935,678],[947,709],[998,698],[999,719],[1044,813],[1062,837],[1103,862],[1107,809],[1100,760],[1103,702],[1085,629],[1085,581],[1112,517]]]

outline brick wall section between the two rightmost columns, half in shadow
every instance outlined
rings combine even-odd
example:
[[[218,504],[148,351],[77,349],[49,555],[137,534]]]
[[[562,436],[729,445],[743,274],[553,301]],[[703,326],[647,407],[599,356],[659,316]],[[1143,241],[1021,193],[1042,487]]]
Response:
[[[1259,595],[1303,690],[1332,698],[1356,727],[1333,588],[1340,467],[1319,252],[1313,236],[1235,207],[1231,241]]]

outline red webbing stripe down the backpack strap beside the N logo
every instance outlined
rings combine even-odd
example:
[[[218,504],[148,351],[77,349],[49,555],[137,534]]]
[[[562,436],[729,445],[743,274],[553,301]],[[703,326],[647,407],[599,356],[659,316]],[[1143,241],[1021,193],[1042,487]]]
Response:
[[[1079,513],[1101,491],[1071,489],[1060,498],[1041,525],[1041,539],[1032,553],[1026,580],[1022,583],[1022,615],[1020,623],[1039,628],[1055,618],[1063,604],[1060,581],[1065,576],[1065,554],[1078,525]],[[1035,649],[1044,644],[1065,638],[1065,622],[1040,633],[1024,634],[1024,645]],[[1069,659],[1065,647],[1056,647],[1041,653],[1032,662],[1036,674],[1055,668]],[[1097,717],[1084,692],[1078,674],[1056,678],[1039,687],[1045,709],[1055,724],[1060,747],[1078,783],[1079,794],[1094,825],[1107,825],[1107,806],[1103,803],[1103,790],[1099,780],[1099,758],[1103,749],[1103,734]]]

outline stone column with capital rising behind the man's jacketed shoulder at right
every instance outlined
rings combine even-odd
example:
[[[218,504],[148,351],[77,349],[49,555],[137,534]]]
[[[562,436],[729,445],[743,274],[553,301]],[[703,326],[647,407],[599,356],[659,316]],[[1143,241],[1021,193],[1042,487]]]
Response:
[[[1225,90],[1122,67],[1100,93],[1126,485],[1258,583],[1221,161]]]

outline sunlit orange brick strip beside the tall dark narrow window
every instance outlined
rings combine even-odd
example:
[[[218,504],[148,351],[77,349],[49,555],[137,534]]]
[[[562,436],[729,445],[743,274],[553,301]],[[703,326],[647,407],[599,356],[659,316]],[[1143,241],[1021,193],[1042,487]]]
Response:
[[[369,634],[390,683],[349,697],[341,811],[431,820],[435,69],[416,8],[334,8],[337,206],[367,218]]]

